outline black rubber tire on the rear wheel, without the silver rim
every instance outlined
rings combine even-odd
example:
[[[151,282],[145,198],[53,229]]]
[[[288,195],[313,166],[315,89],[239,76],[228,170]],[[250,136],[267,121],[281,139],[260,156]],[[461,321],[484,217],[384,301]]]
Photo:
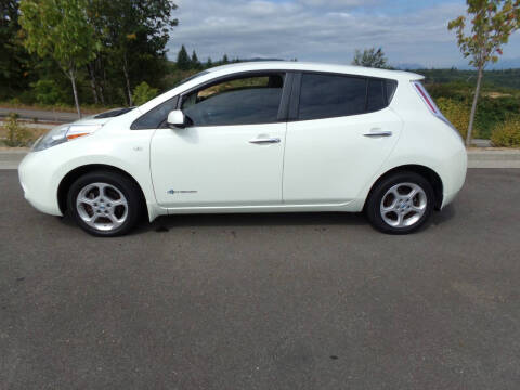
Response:
[[[405,183],[415,184],[422,190],[424,194],[426,195],[426,206],[424,207],[424,213],[419,217],[419,213],[413,210],[411,210],[407,214],[404,214],[404,213],[406,212],[405,211],[406,207],[408,208],[413,207],[419,200],[422,199],[424,202],[424,198],[420,198],[420,199],[418,197],[414,198],[413,200],[411,200],[412,206],[411,204],[408,204],[408,206],[404,204],[402,206],[403,221],[406,221],[406,218],[408,218],[410,222],[407,223],[410,223],[410,225],[393,226],[385,221],[382,216],[384,212],[381,211],[381,203],[385,195],[387,195],[387,192],[389,192],[391,188],[395,188],[395,186],[399,184],[402,184],[403,187],[406,188],[407,185]],[[402,171],[402,172],[395,172],[393,174],[390,174],[387,178],[384,178],[378,183],[376,183],[366,202],[365,213],[370,224],[382,233],[408,234],[417,231],[418,229],[420,229],[420,226],[422,226],[428,221],[433,210],[434,204],[435,204],[435,195],[430,182],[418,173]],[[389,211],[385,213],[386,219],[393,221],[392,212],[393,212],[393,216],[395,216],[394,219],[396,223],[399,218],[399,214],[396,211]]]

